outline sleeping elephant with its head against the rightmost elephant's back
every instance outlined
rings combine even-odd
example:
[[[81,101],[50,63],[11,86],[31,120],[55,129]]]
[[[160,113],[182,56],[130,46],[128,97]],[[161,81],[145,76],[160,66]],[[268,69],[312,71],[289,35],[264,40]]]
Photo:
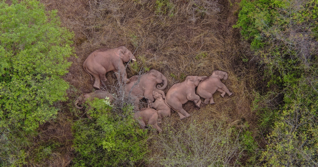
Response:
[[[199,85],[200,81],[207,76],[187,76],[181,83],[174,84],[167,92],[165,102],[176,111],[181,120],[188,118],[190,114],[186,112],[182,105],[188,100],[200,108],[200,96],[196,94],[195,88]]]

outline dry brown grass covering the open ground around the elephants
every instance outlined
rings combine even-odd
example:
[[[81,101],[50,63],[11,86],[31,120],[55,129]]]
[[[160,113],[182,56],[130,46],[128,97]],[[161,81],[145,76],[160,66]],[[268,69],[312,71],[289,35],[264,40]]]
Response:
[[[192,102],[188,102],[184,108],[191,117],[180,121],[177,114],[172,113],[172,116],[163,119],[160,125],[164,130],[172,128],[181,132],[183,126],[190,126],[193,120],[196,120],[197,124],[222,120],[228,127],[236,125],[238,129],[243,128],[246,121],[253,131],[256,123],[250,106],[257,74],[252,64],[242,61],[246,58],[245,55],[250,54],[249,45],[242,43],[239,30],[232,28],[237,20],[239,0],[41,2],[45,4],[46,10],[58,10],[62,24],[75,33],[76,56],[69,58],[73,63],[65,77],[72,85],[68,92],[70,102],[80,93],[93,91],[93,81],[82,68],[86,57],[98,48],[124,45],[135,52],[138,62],[134,69],[128,69],[128,77],[138,74],[140,70],[156,69],[168,78],[165,92],[173,84],[182,82],[187,75],[210,76],[213,70],[222,70],[229,74],[229,79],[224,83],[233,92],[233,96],[226,95],[221,98],[220,93],[215,93],[215,105],[203,105],[199,110],[194,108]],[[113,72],[107,73],[107,79],[106,85],[116,85]],[[67,104],[64,106],[70,107]],[[60,117],[74,119],[68,109],[64,114],[61,113]],[[64,125],[67,126],[64,121],[65,119],[58,119],[52,123],[57,125],[50,125],[49,129],[63,129]],[[48,131],[44,129],[43,135],[50,136],[46,134]],[[55,134],[64,135],[61,132]],[[149,143],[160,142],[164,135],[165,133],[152,136]],[[213,142],[210,145],[213,145]],[[61,151],[63,155],[57,155],[50,160],[58,164],[50,166],[69,164],[73,152],[70,144],[64,146],[68,148]],[[150,155],[163,154],[157,146],[150,145],[150,149]],[[231,158],[238,157],[239,150],[237,147],[237,150],[231,152],[229,164],[233,163]]]

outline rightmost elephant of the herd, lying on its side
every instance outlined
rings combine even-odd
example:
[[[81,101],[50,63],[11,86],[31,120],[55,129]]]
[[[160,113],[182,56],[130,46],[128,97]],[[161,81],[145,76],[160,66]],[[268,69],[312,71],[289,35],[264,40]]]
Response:
[[[221,80],[227,80],[228,74],[224,71],[213,71],[212,75],[204,78],[197,87],[197,94],[203,97],[204,103],[215,104],[213,100],[213,94],[218,91],[221,92],[221,97],[224,97],[225,93],[229,96],[232,93],[229,89],[221,82]]]

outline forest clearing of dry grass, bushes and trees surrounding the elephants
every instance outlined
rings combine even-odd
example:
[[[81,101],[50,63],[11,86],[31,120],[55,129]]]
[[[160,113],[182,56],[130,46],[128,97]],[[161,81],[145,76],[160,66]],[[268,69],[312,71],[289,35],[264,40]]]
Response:
[[[317,18],[317,0],[1,1],[0,166],[317,166]],[[163,96],[216,70],[233,94],[186,102],[160,133],[113,71],[111,100],[74,106],[96,92],[87,57],[121,46],[127,78],[157,70]]]

